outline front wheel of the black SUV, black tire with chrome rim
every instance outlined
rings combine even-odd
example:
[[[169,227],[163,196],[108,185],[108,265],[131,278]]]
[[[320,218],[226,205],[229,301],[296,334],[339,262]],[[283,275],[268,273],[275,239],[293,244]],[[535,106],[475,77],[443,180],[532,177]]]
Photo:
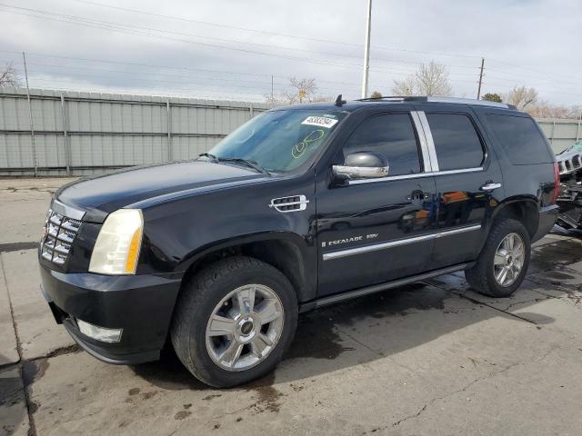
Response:
[[[253,295],[257,295],[253,297],[253,301],[260,300],[256,306],[254,304],[251,312],[248,312],[246,302],[242,303],[236,298],[239,293],[235,293],[235,297],[228,298],[232,292],[242,289],[244,293],[250,288],[253,289]],[[261,300],[263,296],[265,298]],[[265,308],[267,305],[282,308],[280,311],[282,314],[279,314],[275,321],[262,324],[257,313],[261,307]],[[246,309],[239,309],[243,306]],[[221,312],[216,312],[216,310]],[[210,319],[213,317],[215,320],[217,315],[219,320],[227,318],[228,323],[220,325],[227,325],[227,329],[231,329],[230,314],[222,312],[226,310],[230,314],[244,313],[244,316],[232,317],[238,320],[232,321],[234,332],[217,336],[209,334],[209,332],[216,333],[213,328],[217,324],[211,324]],[[198,380],[216,388],[236,386],[260,378],[276,367],[295,335],[297,310],[296,293],[282,272],[251,257],[229,257],[211,264],[186,284],[176,302],[170,330],[171,341],[180,361]],[[276,313],[276,311],[273,312]],[[255,316],[256,318],[253,318]],[[246,341],[251,337],[246,336],[248,321],[245,321],[243,317],[250,320],[252,328],[249,334],[252,335],[253,340],[246,342],[242,351],[229,354],[233,356],[232,362],[236,363],[226,358],[223,362],[220,357],[226,354],[226,349],[234,350],[240,346],[241,342],[238,340]],[[279,325],[280,328],[276,332],[275,327]],[[265,342],[258,341],[259,337],[266,336],[272,339],[266,338]],[[238,340],[235,340],[235,337]],[[270,348],[266,346],[263,352],[255,345],[255,343],[265,344],[267,341],[271,341],[273,345]],[[229,348],[229,346],[235,348]],[[236,354],[240,357],[234,357]],[[255,359],[260,360],[249,366]],[[251,363],[243,366],[241,362]],[[233,366],[229,367],[228,365],[231,364]]]

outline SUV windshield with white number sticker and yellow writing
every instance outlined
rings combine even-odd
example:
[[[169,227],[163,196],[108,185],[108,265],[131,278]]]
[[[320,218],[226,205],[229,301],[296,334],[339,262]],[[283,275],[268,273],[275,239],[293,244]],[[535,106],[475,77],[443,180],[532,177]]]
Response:
[[[253,161],[270,172],[296,169],[327,142],[344,112],[273,111],[260,114],[216,144],[216,158]]]

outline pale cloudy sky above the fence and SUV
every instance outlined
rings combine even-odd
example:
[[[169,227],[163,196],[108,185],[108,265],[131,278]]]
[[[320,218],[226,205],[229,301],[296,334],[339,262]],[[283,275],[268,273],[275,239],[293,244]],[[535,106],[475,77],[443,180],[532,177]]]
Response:
[[[373,0],[370,90],[435,60],[457,96],[582,104],[580,0]],[[366,0],[0,0],[0,64],[36,88],[264,101],[289,76],[358,98]]]

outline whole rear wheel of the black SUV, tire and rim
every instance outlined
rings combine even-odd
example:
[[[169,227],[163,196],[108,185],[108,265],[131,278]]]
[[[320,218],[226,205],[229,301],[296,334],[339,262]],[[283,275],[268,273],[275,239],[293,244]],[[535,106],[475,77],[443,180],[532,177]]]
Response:
[[[493,224],[475,266],[465,272],[477,292],[508,297],[526,277],[531,242],[522,223],[502,218]]]

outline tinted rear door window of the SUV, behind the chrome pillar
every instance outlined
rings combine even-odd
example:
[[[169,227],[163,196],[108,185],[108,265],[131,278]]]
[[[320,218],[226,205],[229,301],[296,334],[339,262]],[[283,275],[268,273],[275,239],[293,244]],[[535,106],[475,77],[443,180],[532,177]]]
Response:
[[[475,127],[464,114],[426,114],[440,171],[478,168],[485,154]]]

